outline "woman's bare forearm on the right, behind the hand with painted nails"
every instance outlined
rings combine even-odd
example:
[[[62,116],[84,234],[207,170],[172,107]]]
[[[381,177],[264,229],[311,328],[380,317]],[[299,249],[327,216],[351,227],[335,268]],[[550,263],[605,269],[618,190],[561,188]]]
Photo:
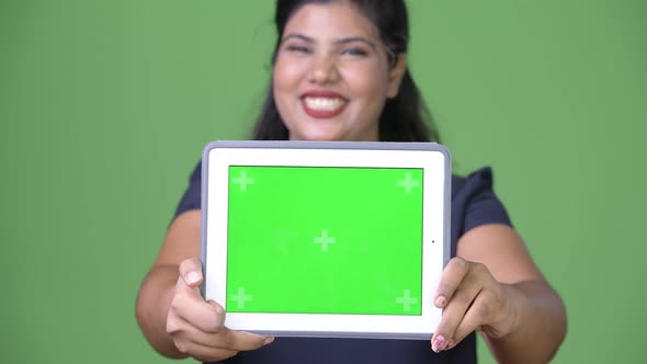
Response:
[[[515,328],[500,339],[484,334],[499,363],[547,363],[566,335],[566,310],[544,281],[507,285],[515,303]]]

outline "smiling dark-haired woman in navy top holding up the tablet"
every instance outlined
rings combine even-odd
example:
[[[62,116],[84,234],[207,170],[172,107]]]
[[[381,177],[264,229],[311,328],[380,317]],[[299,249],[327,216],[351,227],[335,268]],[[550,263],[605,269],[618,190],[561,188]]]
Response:
[[[404,0],[279,0],[271,92],[256,139],[438,140],[407,69]],[[265,338],[223,326],[205,302],[200,166],[141,285],[137,318],[169,357],[228,363],[474,363],[475,331],[506,363],[545,363],[566,332],[543,278],[491,191],[489,170],[452,180],[452,252],[434,296],[444,309],[429,342]],[[434,353],[435,352],[435,353]]]

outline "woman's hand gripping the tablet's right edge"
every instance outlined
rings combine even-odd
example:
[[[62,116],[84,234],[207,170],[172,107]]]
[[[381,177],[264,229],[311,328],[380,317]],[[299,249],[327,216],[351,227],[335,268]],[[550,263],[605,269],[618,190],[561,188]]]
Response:
[[[497,282],[486,265],[450,260],[434,296],[443,317],[431,338],[434,352],[451,349],[475,330],[502,338],[515,328],[510,286]]]

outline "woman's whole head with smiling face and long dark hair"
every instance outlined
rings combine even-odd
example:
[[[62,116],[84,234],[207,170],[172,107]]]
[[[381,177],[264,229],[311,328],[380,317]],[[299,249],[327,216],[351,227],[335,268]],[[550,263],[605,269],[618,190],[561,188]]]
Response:
[[[439,141],[407,67],[402,1],[280,0],[275,24],[274,76],[254,139]],[[296,123],[299,115],[307,118]],[[306,127],[314,135],[302,135]]]

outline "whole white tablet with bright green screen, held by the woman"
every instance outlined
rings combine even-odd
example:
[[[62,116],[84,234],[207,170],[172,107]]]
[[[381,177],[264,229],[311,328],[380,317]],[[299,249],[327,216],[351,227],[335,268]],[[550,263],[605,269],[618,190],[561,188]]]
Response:
[[[214,141],[202,166],[202,292],[226,327],[431,338],[450,257],[443,146]]]

